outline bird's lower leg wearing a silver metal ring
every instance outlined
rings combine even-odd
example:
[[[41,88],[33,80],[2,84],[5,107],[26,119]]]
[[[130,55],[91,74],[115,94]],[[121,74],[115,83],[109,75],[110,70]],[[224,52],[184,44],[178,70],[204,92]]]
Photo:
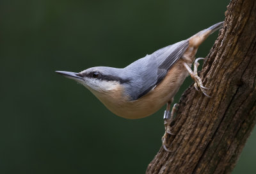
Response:
[[[163,148],[164,150],[171,152],[170,150],[168,150],[168,148],[166,147],[167,142],[166,139],[168,137],[168,134],[170,135],[175,135],[171,132],[171,126],[170,123],[172,122],[174,115],[177,111],[177,107],[179,107],[178,104],[174,104],[173,108],[172,108],[172,113],[170,114],[170,107],[171,107],[171,103],[172,102],[168,102],[167,106],[166,106],[166,110],[164,111],[164,127],[165,127],[165,132],[164,132],[164,136],[162,138],[162,143],[163,143]]]

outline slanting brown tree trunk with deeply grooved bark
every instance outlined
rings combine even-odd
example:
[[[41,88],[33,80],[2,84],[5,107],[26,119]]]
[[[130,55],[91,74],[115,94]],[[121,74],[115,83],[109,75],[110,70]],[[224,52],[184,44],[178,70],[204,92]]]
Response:
[[[256,3],[234,0],[200,73],[205,97],[184,92],[168,137],[147,173],[230,173],[256,122]]]

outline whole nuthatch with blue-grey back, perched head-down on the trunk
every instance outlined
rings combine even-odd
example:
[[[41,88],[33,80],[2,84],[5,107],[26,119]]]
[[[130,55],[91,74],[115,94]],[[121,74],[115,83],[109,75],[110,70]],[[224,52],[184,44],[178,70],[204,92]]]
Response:
[[[93,67],[82,72],[56,71],[83,84],[110,111],[124,118],[136,119],[156,113],[167,103],[164,119],[168,119],[163,146],[170,132],[170,104],[188,74],[195,81],[196,90],[206,96],[202,80],[197,75],[199,65],[195,54],[207,36],[220,29],[223,22],[196,33],[190,38],[174,43],[134,61],[125,68]],[[191,70],[193,61],[194,71]],[[209,97],[209,96],[208,96]],[[171,114],[173,115],[173,113]]]

